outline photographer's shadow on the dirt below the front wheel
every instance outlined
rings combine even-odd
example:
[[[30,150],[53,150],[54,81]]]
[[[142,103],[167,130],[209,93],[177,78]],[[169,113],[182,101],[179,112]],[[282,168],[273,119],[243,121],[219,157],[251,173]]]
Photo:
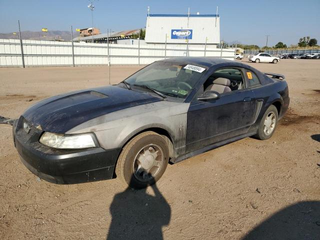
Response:
[[[113,197],[107,240],[163,239],[162,226],[169,223],[171,209],[156,184],[151,187],[154,196],[148,194],[146,188],[127,187]]]

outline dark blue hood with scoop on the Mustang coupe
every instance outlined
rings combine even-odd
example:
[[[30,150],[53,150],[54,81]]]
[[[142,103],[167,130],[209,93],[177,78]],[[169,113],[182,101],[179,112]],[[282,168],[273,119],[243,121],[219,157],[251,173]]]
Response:
[[[65,133],[92,118],[161,100],[147,92],[111,85],[49,97],[32,105],[22,116],[43,131]]]

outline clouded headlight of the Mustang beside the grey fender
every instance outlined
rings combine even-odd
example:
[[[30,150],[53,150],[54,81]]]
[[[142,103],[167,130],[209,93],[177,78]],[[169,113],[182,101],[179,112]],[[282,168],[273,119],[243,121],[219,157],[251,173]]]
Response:
[[[92,133],[64,135],[45,131],[39,142],[60,149],[81,149],[97,146],[97,141]]]

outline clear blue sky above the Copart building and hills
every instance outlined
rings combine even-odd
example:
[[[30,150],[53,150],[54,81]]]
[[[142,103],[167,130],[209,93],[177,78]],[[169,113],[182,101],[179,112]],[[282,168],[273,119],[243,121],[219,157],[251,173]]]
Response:
[[[0,32],[69,30],[91,26],[88,0],[0,0]],[[265,45],[296,44],[310,36],[320,42],[320,0],[95,0],[93,25],[106,32],[145,26],[147,6],[154,14],[220,15],[220,38]]]

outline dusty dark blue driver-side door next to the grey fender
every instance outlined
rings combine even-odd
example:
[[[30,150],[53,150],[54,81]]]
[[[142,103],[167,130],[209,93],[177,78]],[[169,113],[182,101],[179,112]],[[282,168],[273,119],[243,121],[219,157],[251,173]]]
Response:
[[[194,99],[187,112],[186,152],[246,133],[254,112],[253,91],[245,87],[212,101]]]

